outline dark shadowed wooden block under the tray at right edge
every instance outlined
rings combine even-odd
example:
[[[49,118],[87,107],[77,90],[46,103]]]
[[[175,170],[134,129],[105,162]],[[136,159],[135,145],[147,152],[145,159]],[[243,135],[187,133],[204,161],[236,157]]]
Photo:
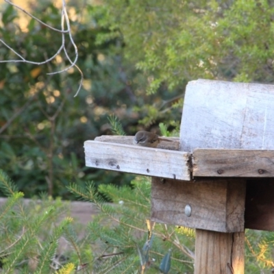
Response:
[[[274,179],[247,180],[245,227],[274,231]]]

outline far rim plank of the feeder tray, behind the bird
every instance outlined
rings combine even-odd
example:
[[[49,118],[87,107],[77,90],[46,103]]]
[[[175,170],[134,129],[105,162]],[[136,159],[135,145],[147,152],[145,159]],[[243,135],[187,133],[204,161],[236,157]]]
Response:
[[[123,145],[133,145],[134,136],[110,136],[103,135],[95,138],[95,141],[99,142],[114,142],[116,144]],[[173,142],[160,142],[158,144],[158,149],[169,149],[169,150],[179,150],[179,138],[178,137],[169,137]]]

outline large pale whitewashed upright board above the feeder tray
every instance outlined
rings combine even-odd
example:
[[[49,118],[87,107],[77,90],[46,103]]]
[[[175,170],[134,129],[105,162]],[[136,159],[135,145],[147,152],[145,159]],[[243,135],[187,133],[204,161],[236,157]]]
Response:
[[[274,86],[199,79],[186,86],[180,149],[274,149]]]

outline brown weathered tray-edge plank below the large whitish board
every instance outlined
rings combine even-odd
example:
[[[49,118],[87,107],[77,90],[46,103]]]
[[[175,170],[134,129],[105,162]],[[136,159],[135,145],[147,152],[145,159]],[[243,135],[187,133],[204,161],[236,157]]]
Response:
[[[195,149],[193,176],[274,177],[274,150]]]

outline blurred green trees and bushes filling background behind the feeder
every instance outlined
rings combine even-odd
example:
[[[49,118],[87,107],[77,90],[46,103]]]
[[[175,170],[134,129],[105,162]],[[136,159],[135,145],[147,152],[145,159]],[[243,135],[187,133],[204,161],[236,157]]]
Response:
[[[29,12],[60,29],[60,1],[29,1]],[[69,182],[128,184],[132,175],[86,169],[84,141],[111,134],[178,132],[184,89],[198,78],[272,83],[272,1],[67,1],[77,66],[64,55],[40,66],[0,64],[0,168],[26,197],[45,191],[71,199]],[[0,1],[0,37],[27,60],[42,62],[61,45],[58,32]],[[23,23],[22,23],[23,22]],[[69,41],[69,40],[68,40]],[[70,42],[66,49],[73,59]],[[0,60],[17,56],[0,44]]]

